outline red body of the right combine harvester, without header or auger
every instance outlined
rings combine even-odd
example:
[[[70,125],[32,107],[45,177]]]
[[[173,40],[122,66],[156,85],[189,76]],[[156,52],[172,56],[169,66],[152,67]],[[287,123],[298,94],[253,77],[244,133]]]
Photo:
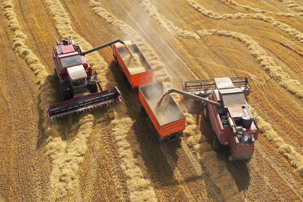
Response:
[[[240,89],[231,88],[225,90],[225,94],[235,93],[235,90],[238,91],[239,94],[242,93]],[[223,100],[222,100],[222,96],[220,95],[221,95],[220,90],[214,90],[210,95],[209,99],[211,101],[222,103]],[[253,114],[251,113],[248,104],[245,103],[245,104],[236,104],[236,106],[224,106],[226,112],[224,115],[220,115],[218,112],[218,108],[212,104],[206,104],[205,108],[208,108],[209,121],[211,123],[212,129],[215,131],[217,135],[219,143],[221,145],[230,147],[233,154],[231,156],[233,158],[232,160],[251,158],[254,153],[255,144],[251,143],[250,141],[241,142],[240,139],[239,141],[240,144],[237,145],[230,124],[228,124],[227,120],[221,121],[222,116],[225,116],[226,113],[229,113],[230,118],[233,120],[235,124],[235,128],[242,127],[241,132],[243,135],[241,136],[244,137],[252,136],[256,141],[258,139],[259,128],[257,121],[254,118],[253,115],[254,113]],[[206,111],[207,109],[204,110],[205,116],[207,116]],[[245,125],[243,125],[243,123],[241,123],[241,121],[243,122],[242,120],[243,118],[245,118],[245,121],[250,119],[250,121],[247,121],[248,124],[245,123]],[[224,123],[225,125],[223,125]],[[244,133],[243,133],[243,128],[245,128],[246,131]],[[216,143],[214,142],[214,144]]]

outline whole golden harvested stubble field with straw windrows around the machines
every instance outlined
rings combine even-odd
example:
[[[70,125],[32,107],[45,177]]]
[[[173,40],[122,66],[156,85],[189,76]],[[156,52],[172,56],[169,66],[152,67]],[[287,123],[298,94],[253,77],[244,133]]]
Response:
[[[302,0],[3,0],[0,201],[303,201]],[[133,40],[167,88],[247,75],[261,132],[250,161],[215,153],[197,104],[159,146],[110,48],[87,55],[123,102],[50,122],[61,101],[49,45]],[[45,46],[46,45],[46,46]]]

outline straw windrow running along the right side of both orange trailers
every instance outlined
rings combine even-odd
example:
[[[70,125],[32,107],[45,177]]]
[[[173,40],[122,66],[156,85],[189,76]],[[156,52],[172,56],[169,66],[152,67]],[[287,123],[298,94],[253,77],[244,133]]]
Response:
[[[137,44],[139,46],[139,48],[143,51],[143,49],[141,48],[141,46],[145,47],[148,46],[146,45],[145,41],[143,40],[142,37],[140,37],[138,35],[138,33],[131,28],[131,26],[125,24],[123,21],[118,20],[117,18],[115,18],[111,13],[107,12],[106,9],[100,7],[100,4],[98,2],[95,1],[91,1],[91,5],[93,7],[93,10],[96,12],[97,15],[99,15],[100,17],[104,18],[107,22],[111,23],[112,25],[118,27],[119,29],[121,29],[121,31],[128,37],[130,38],[134,38],[135,40],[138,40],[139,43]],[[148,46],[149,47],[149,46]],[[152,51],[152,52],[150,52]],[[153,61],[153,60],[158,60],[158,58],[149,58],[149,54],[152,54],[154,56],[154,51],[151,48],[148,48],[148,50],[143,51],[144,54],[146,54],[146,58],[148,61]],[[152,62],[150,63],[151,66]],[[160,62],[157,62],[157,64],[160,64]],[[163,66],[163,67],[162,67]],[[164,68],[164,65],[161,64],[161,68]],[[155,70],[157,70],[157,68],[155,68]],[[157,74],[155,74],[155,77],[157,78]],[[168,76],[167,71],[165,72],[165,76]],[[169,77],[169,76],[168,76]],[[161,78],[158,78],[161,80]],[[169,79],[170,81],[171,79]],[[170,84],[170,86],[172,86]],[[178,101],[180,101],[180,97],[178,97]],[[197,125],[195,125],[195,121],[193,120],[192,117],[188,116],[189,114],[187,114],[186,120],[187,120],[187,126],[185,127],[185,134],[195,134],[196,131],[198,131],[198,127]],[[188,121],[191,120],[191,121]],[[187,145],[185,146],[187,148]],[[185,149],[186,149],[185,148]],[[214,153],[212,151],[208,151],[210,153]],[[212,157],[214,157],[215,159],[217,159],[216,155],[213,155]],[[243,193],[239,193],[235,190],[237,190],[236,185],[234,180],[232,179],[232,177],[230,176],[230,174],[228,173],[227,170],[225,170],[225,164],[222,162],[217,163],[217,161],[213,161],[213,158],[204,158],[203,160],[205,160],[206,162],[203,162],[204,165],[207,167],[207,170],[211,173],[213,171],[213,165],[215,167],[219,167],[220,169],[217,170],[218,172],[215,172],[211,177],[213,180],[215,180],[218,183],[219,188],[222,191],[223,195],[226,195],[228,197],[231,197],[232,199],[235,198],[241,198],[244,200],[244,195]],[[223,180],[222,176],[220,175],[220,172],[225,171],[225,176],[224,176],[224,180],[228,179],[229,181],[229,186],[221,186],[221,184],[219,183],[220,181]],[[178,174],[178,172],[177,172]],[[180,181],[182,184],[182,180]],[[231,188],[232,187],[232,188]],[[185,188],[186,189],[186,188]],[[232,190],[231,190],[232,189]],[[236,192],[236,193],[235,193]],[[228,198],[226,197],[226,198]],[[231,200],[232,200],[231,199]]]

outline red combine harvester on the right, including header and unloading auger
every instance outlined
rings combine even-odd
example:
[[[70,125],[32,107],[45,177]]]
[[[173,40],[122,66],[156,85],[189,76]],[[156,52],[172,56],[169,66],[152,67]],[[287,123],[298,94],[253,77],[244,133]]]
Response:
[[[221,145],[230,147],[230,160],[248,159],[254,153],[258,139],[258,116],[251,113],[244,95],[249,95],[250,85],[247,77],[215,78],[187,81],[179,93],[185,100],[201,101],[204,116],[210,121],[216,136],[213,147],[218,151]]]

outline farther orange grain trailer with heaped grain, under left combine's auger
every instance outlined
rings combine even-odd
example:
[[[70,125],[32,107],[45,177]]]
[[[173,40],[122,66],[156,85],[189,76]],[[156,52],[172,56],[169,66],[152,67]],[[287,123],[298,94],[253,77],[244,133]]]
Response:
[[[153,80],[153,71],[148,61],[146,60],[143,53],[140,51],[138,46],[131,41],[124,41],[125,45],[128,46],[132,54],[137,54],[142,59],[143,65],[146,69],[142,72],[132,72],[132,68],[129,68],[125,61],[122,58],[125,58],[129,55],[127,48],[122,43],[118,42],[112,45],[113,55],[118,65],[119,70],[121,71],[124,81],[128,88],[132,91],[140,85],[147,84]]]

